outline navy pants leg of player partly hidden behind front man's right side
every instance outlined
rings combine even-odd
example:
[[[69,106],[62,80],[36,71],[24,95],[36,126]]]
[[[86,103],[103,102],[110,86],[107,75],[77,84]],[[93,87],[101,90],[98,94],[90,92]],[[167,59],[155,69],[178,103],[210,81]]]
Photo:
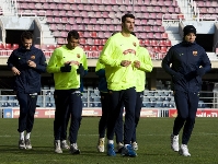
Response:
[[[136,128],[138,126],[138,121],[140,118],[140,113],[141,113],[141,106],[142,106],[142,97],[144,97],[144,92],[137,92],[136,93],[136,107],[135,107],[135,130],[131,137],[131,143],[136,142]]]

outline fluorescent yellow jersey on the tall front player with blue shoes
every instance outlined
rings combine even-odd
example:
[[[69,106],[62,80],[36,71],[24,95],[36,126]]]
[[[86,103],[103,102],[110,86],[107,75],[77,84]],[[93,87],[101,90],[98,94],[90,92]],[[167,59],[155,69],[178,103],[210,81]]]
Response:
[[[139,40],[134,35],[124,37],[117,33],[107,39],[99,60],[105,66],[108,90],[121,91],[136,85],[134,61],[138,60],[138,46]],[[131,61],[131,65],[122,67],[123,60]]]

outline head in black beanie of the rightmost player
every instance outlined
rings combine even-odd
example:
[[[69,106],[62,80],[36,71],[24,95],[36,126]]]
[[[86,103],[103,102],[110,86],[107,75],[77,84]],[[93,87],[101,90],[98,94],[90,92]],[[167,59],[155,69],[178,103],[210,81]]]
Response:
[[[186,25],[183,28],[183,37],[184,40],[190,42],[190,43],[194,43],[195,38],[196,38],[196,28],[193,25]]]

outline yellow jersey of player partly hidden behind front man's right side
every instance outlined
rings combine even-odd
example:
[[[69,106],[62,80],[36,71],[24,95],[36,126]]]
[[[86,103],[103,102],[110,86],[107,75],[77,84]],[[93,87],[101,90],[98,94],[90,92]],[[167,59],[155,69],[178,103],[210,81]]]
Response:
[[[139,47],[137,56],[140,61],[140,68],[136,71],[136,92],[141,92],[145,90],[146,85],[146,72],[151,72],[153,65],[146,48]]]

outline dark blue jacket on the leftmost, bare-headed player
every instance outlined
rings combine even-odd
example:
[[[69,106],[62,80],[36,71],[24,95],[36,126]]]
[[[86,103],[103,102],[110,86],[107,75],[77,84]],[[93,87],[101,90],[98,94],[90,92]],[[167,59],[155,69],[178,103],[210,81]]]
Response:
[[[36,63],[36,68],[28,67],[27,61]],[[31,49],[20,47],[12,51],[8,59],[8,67],[15,67],[21,74],[14,75],[14,91],[24,93],[41,92],[41,73],[46,71],[46,58],[41,49],[34,46]]]

